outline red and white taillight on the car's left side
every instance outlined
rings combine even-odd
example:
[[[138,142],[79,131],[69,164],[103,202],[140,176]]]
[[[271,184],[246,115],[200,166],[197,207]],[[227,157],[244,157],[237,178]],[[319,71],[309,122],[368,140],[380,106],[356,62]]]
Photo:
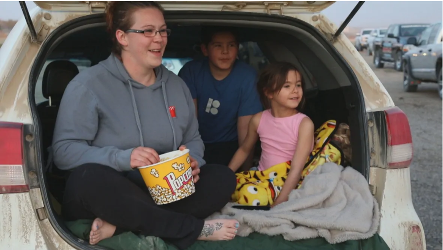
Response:
[[[23,172],[23,125],[0,122],[0,193],[27,192]]]

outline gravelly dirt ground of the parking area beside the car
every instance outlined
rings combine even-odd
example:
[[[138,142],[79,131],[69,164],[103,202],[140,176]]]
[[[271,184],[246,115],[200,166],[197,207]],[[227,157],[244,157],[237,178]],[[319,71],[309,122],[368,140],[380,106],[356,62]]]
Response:
[[[403,73],[392,64],[375,68],[372,56],[361,52],[396,106],[406,113],[413,136],[412,197],[423,224],[427,250],[442,250],[442,100],[437,84],[426,83],[416,93],[403,91]]]

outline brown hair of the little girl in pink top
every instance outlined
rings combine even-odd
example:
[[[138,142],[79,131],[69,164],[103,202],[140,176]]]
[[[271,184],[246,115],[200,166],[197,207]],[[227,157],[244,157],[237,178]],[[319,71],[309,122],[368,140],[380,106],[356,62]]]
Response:
[[[294,70],[300,74],[301,72],[292,63],[287,62],[276,62],[268,64],[260,73],[259,80],[257,82],[257,90],[260,94],[260,99],[266,109],[270,108],[269,99],[266,93],[278,93],[283,88],[286,83],[286,78],[288,77],[289,71]],[[305,104],[304,98],[304,80],[301,77],[301,89],[303,90],[303,96],[301,97],[300,103],[296,110],[301,112]]]

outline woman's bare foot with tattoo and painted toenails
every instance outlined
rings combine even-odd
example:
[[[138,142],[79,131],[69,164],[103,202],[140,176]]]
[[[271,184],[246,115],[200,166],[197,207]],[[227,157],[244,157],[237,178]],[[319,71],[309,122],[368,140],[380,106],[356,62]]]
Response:
[[[212,219],[205,221],[202,232],[197,240],[229,241],[236,237],[240,223],[235,219]]]

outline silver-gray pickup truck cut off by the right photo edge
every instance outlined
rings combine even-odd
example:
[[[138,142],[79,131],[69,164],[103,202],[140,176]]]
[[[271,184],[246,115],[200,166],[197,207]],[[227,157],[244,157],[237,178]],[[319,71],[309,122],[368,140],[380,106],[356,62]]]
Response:
[[[414,47],[403,56],[403,89],[415,92],[421,82],[438,83],[442,98],[442,21],[429,26],[418,41],[410,37],[407,43]]]

